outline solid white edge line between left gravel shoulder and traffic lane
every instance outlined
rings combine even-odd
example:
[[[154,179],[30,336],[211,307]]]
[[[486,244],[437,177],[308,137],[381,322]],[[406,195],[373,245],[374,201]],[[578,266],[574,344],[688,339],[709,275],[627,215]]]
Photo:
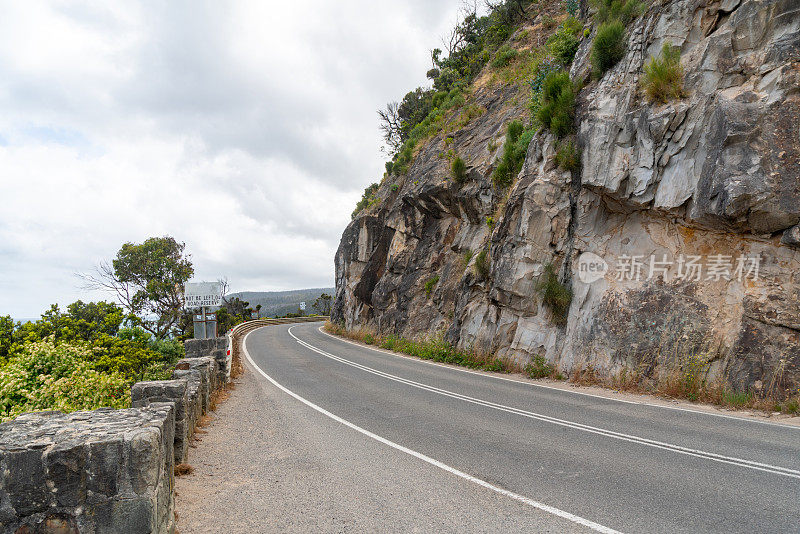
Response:
[[[594,521],[591,521],[589,519],[585,519],[585,518],[577,516],[575,514],[571,514],[569,512],[565,512],[564,510],[560,510],[558,508],[555,508],[553,506],[550,506],[550,505],[547,505],[547,504],[544,504],[544,503],[540,503],[539,501],[535,501],[533,499],[525,497],[524,495],[520,495],[518,493],[514,493],[513,491],[509,491],[509,490],[506,490],[506,489],[503,489],[503,488],[499,488],[499,487],[497,487],[497,486],[495,486],[493,484],[490,484],[489,482],[486,482],[485,480],[482,480],[480,478],[477,478],[477,477],[474,477],[474,476],[469,475],[467,473],[464,473],[463,471],[459,471],[458,469],[456,469],[454,467],[450,467],[449,465],[447,465],[445,463],[442,463],[439,460],[435,460],[435,459],[431,458],[430,456],[426,456],[426,455],[422,454],[421,452],[417,452],[415,450],[409,449],[408,447],[404,447],[403,445],[400,445],[400,444],[395,443],[393,441],[390,441],[390,440],[388,440],[388,439],[386,439],[384,437],[381,437],[381,436],[379,436],[377,434],[374,434],[374,433],[370,432],[369,430],[365,430],[365,429],[361,428],[360,426],[358,426],[358,425],[356,425],[354,423],[351,423],[350,421],[347,421],[346,419],[342,419],[338,415],[335,415],[335,414],[329,412],[328,410],[326,410],[326,409],[324,409],[324,408],[322,408],[320,406],[317,406],[316,404],[314,404],[310,400],[301,397],[297,393],[289,390],[288,388],[286,388],[283,385],[281,385],[278,382],[276,382],[274,378],[269,376],[267,373],[264,372],[263,369],[261,369],[258,365],[256,365],[256,362],[253,361],[253,358],[250,356],[250,352],[247,350],[247,338],[250,336],[250,334],[252,334],[256,330],[260,330],[260,328],[257,328],[255,330],[252,330],[252,331],[248,332],[247,334],[245,334],[244,339],[242,339],[242,351],[244,352],[244,355],[247,358],[247,361],[250,362],[250,365],[252,365],[256,369],[256,371],[258,371],[259,374],[261,374],[261,376],[266,378],[272,385],[274,385],[275,387],[277,387],[278,389],[280,389],[284,393],[290,395],[291,397],[297,399],[298,401],[302,402],[303,404],[305,404],[309,408],[312,408],[312,409],[316,410],[317,412],[321,413],[322,415],[324,415],[326,417],[329,417],[329,418],[333,419],[334,421],[336,421],[337,423],[341,423],[344,426],[346,426],[346,427],[348,427],[348,428],[350,428],[352,430],[355,430],[356,432],[359,432],[360,434],[363,434],[363,435],[367,436],[368,438],[374,439],[375,441],[378,441],[379,443],[383,443],[384,445],[387,445],[387,446],[389,446],[389,447],[391,447],[391,448],[393,448],[395,450],[398,450],[400,452],[403,452],[405,454],[413,456],[414,458],[422,460],[423,462],[426,462],[426,463],[428,463],[428,464],[430,464],[430,465],[432,465],[434,467],[438,467],[439,469],[442,469],[443,471],[447,471],[450,474],[456,475],[459,478],[463,478],[464,480],[472,482],[473,484],[477,484],[478,486],[482,486],[482,487],[484,487],[486,489],[492,490],[495,493],[499,493],[500,495],[503,495],[505,497],[509,497],[511,499],[514,499],[515,501],[519,501],[521,503],[527,504],[528,506],[531,506],[531,507],[536,508],[538,510],[541,510],[543,512],[547,512],[548,514],[551,514],[551,515],[560,517],[562,519],[566,519],[567,521],[571,521],[571,522],[576,523],[578,525],[584,526],[586,528],[594,530],[595,532],[603,532],[604,534],[622,534],[618,530],[614,530],[613,528],[606,527],[606,526],[601,525],[599,523],[595,523]]]

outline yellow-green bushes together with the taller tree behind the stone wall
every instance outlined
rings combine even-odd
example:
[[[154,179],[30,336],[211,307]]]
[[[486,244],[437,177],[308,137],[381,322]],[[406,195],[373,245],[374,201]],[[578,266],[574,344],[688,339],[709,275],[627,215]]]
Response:
[[[0,316],[0,421],[39,410],[124,408],[130,387],[172,375],[184,356],[183,284],[194,270],[172,237],[125,243],[84,275],[119,303],[53,305],[38,320]]]

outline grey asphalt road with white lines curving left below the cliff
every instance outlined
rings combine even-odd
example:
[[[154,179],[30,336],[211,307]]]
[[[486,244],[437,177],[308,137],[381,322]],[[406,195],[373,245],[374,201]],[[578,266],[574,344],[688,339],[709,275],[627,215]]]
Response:
[[[319,326],[245,340],[281,399],[267,417],[308,436],[303,465],[274,476],[291,487],[310,462],[322,480],[287,497],[285,529],[800,532],[798,427],[504,380]]]

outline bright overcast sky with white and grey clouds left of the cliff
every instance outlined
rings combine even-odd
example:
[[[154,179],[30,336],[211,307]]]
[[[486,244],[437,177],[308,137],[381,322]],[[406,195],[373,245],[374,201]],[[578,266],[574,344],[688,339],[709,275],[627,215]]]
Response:
[[[162,235],[233,291],[332,286],[376,110],[459,4],[0,0],[0,315],[102,298],[75,273]]]

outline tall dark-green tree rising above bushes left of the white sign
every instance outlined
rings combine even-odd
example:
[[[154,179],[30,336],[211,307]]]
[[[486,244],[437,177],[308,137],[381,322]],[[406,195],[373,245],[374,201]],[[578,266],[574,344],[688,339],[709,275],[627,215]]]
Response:
[[[169,236],[125,243],[111,263],[102,262],[82,278],[88,289],[114,293],[137,324],[164,339],[178,324],[183,285],[194,274],[185,248]]]

